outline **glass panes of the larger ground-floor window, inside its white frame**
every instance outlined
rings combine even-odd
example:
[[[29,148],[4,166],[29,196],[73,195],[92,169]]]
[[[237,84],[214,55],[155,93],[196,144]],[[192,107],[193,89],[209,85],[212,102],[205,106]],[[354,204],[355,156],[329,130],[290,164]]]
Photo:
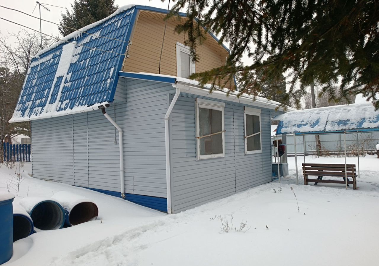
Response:
[[[222,131],[222,111],[199,108],[200,137]],[[222,153],[222,133],[199,139],[200,155]]]

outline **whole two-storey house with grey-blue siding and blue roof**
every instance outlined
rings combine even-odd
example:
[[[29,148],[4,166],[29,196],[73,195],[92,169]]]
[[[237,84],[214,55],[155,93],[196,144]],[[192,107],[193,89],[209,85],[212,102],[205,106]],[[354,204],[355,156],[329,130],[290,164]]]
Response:
[[[208,33],[193,63],[177,17],[159,74],[165,15],[124,6],[34,56],[11,119],[31,121],[33,177],[168,213],[271,181],[279,103],[187,79],[229,53]]]

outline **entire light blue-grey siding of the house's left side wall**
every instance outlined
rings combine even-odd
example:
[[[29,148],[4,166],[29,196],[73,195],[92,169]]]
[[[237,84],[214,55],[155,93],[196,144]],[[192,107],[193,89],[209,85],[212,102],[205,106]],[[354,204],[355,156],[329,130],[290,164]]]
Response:
[[[130,80],[127,102],[106,108],[124,131],[126,193],[166,198],[163,118],[172,89]],[[118,143],[118,131],[101,110],[32,121],[33,176],[120,191]]]

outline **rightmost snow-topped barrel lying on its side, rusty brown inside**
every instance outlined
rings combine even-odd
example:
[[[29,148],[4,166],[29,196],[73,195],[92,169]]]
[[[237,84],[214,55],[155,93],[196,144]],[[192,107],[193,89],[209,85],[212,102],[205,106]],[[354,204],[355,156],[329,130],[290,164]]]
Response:
[[[99,215],[99,209],[93,201],[77,194],[60,191],[55,193],[52,198],[62,204],[66,215],[66,226],[75,226],[96,220]]]

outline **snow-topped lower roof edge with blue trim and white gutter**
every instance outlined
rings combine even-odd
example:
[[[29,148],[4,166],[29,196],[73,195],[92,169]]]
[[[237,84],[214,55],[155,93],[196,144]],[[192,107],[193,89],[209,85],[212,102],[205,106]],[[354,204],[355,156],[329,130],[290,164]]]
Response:
[[[240,102],[244,104],[249,105],[259,105],[260,107],[266,107],[268,109],[276,109],[279,108],[281,111],[293,111],[296,110],[292,107],[286,106],[285,110],[283,107],[279,107],[281,104],[277,101],[268,100],[266,98],[260,97],[260,96],[254,96],[249,95],[247,93],[242,93],[239,97],[238,92],[230,91],[227,88],[224,89],[215,89],[210,92],[211,85],[205,84],[204,87],[200,87],[200,82],[193,80],[193,79],[187,79],[187,78],[181,78],[178,76],[170,76],[170,75],[161,75],[161,74],[154,74],[154,73],[145,73],[145,72],[119,72],[119,76],[123,76],[125,78],[135,78],[135,79],[145,79],[145,80],[152,80],[152,81],[160,81],[160,82],[167,82],[172,84],[182,84],[184,86],[190,86],[194,87],[196,89],[196,93],[202,93],[207,94],[210,98],[222,98],[229,101],[235,101]],[[219,97],[218,97],[219,96]],[[227,97],[227,98],[226,98]]]

